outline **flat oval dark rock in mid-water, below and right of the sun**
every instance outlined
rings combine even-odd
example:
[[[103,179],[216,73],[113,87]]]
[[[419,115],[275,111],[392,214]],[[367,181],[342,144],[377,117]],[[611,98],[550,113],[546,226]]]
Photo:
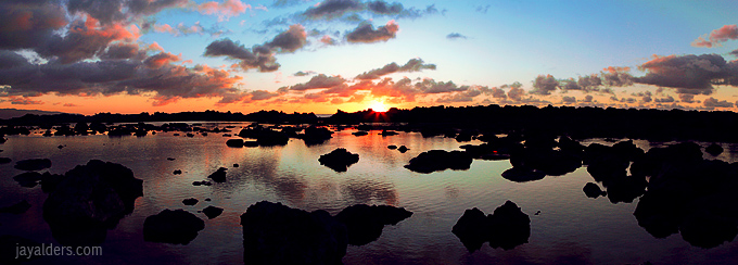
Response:
[[[405,168],[417,173],[443,172],[445,169],[466,171],[472,157],[461,151],[431,150],[410,160]]]

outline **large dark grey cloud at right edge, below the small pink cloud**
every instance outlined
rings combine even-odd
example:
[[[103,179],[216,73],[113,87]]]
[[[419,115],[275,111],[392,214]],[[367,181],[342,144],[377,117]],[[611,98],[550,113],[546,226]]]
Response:
[[[677,93],[710,94],[713,85],[738,85],[738,63],[718,54],[656,56],[640,66],[637,83],[676,88]]]

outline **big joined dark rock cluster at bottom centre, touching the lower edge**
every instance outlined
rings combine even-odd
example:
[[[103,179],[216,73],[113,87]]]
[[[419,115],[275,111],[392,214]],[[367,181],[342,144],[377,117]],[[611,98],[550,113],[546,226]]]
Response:
[[[262,201],[241,215],[244,263],[343,264],[349,243],[376,240],[378,228],[381,234],[384,225],[410,215],[404,209],[359,204],[331,216],[323,210],[306,212]]]

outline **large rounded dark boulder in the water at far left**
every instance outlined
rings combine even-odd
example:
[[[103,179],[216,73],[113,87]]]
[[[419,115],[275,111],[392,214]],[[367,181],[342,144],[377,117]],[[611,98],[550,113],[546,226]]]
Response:
[[[129,168],[91,160],[64,174],[43,202],[43,219],[62,244],[100,244],[141,195],[143,180]]]

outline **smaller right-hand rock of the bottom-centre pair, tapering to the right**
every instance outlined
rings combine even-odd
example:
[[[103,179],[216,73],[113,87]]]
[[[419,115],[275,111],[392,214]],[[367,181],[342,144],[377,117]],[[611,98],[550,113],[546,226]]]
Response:
[[[335,219],[346,225],[349,244],[364,245],[379,239],[385,225],[394,226],[410,216],[412,213],[403,207],[356,204],[341,211]]]

